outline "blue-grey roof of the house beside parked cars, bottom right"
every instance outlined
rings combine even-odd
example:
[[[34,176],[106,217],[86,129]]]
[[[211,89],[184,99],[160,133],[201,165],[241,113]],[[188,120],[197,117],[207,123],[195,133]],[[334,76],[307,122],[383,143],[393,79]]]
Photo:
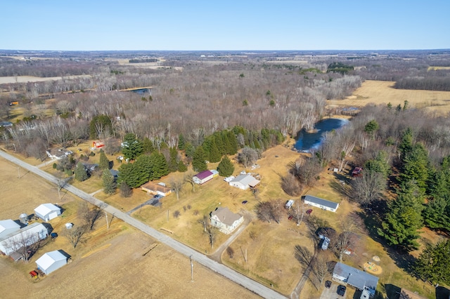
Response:
[[[337,274],[340,277],[347,277],[347,284],[359,288],[360,290],[368,288],[371,293],[375,293],[375,288],[377,288],[378,277],[354,267],[350,267],[349,265],[336,263],[333,274]]]

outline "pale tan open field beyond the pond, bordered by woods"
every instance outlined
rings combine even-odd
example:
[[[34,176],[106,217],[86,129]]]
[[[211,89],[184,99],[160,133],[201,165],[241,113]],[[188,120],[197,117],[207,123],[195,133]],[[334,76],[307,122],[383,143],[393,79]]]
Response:
[[[394,88],[393,81],[364,81],[360,88],[344,100],[327,100],[327,105],[363,107],[368,104],[391,103],[392,107],[409,102],[409,107],[445,115],[450,112],[450,91],[413,91]]]

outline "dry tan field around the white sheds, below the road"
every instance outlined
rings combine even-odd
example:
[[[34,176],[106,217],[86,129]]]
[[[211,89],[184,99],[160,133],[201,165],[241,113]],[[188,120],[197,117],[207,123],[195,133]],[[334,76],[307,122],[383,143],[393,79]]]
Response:
[[[17,178],[17,168],[4,159],[0,159],[0,169],[1,219],[14,220],[22,212],[32,213],[38,204],[56,203],[56,188],[53,190],[46,181],[30,173]],[[15,179],[11,173],[16,175]],[[65,211],[50,224],[60,237],[40,248],[29,263],[13,263],[6,256],[0,256],[3,298],[31,295],[34,298],[60,298],[61,294],[64,298],[79,298],[79,295],[88,298],[257,298],[245,288],[198,264],[194,264],[194,281],[191,282],[188,258],[114,218],[110,230],[106,228],[105,218],[101,218],[94,231],[89,233],[89,239],[74,249],[62,235],[63,225],[65,222],[79,223],[76,211],[82,201],[65,194],[58,204]],[[28,272],[34,269],[35,260],[43,253],[57,249],[69,253],[72,263],[39,281],[31,279]]]

